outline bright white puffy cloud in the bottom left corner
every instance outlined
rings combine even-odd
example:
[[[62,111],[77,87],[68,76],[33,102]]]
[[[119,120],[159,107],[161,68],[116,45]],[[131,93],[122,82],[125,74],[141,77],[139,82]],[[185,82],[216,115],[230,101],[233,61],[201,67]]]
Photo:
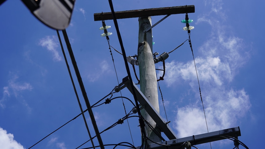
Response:
[[[20,143],[14,140],[14,135],[7,133],[0,127],[0,147],[4,149],[25,149]]]

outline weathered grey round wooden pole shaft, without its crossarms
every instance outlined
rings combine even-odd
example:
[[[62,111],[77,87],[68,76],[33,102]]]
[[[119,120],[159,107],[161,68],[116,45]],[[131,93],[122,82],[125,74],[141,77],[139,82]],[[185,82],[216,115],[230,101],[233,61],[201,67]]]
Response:
[[[151,17],[139,18],[138,63],[140,72],[140,90],[159,113],[156,69],[152,50],[152,29],[144,33],[151,24]],[[161,134],[160,129],[156,127],[155,121],[145,109],[141,110],[141,114],[144,119],[147,120],[159,134]],[[150,127],[146,125],[146,129],[147,137],[149,139],[155,142],[161,142],[160,137],[158,137]],[[148,143],[152,142],[148,140]]]

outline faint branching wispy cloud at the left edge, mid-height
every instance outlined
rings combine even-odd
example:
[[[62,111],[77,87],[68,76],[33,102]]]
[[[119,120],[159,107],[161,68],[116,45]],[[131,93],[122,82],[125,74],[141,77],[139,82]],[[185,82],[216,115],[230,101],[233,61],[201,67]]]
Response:
[[[10,72],[9,75],[11,78],[8,80],[8,86],[3,87],[3,96],[0,100],[0,106],[5,108],[5,101],[8,100],[11,95],[14,95],[17,99],[22,101],[29,111],[31,111],[31,108],[27,104],[26,100],[24,100],[20,94],[24,91],[31,91],[33,87],[30,83],[17,81],[18,76],[16,74]]]

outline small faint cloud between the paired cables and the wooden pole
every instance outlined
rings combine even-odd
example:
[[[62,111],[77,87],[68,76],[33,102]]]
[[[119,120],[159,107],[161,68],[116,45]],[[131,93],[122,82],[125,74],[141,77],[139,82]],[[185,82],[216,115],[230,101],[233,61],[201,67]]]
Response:
[[[96,67],[97,68],[97,67]],[[102,75],[105,73],[108,73],[109,70],[109,64],[107,61],[102,61],[99,65],[100,70],[95,70],[93,73],[90,73],[87,78],[90,82],[97,81]]]

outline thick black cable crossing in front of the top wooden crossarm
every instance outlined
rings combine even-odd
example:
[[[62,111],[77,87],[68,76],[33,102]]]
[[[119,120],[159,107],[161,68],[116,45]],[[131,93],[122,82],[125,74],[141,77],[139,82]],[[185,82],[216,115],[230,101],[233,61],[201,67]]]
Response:
[[[127,62],[125,49],[124,49],[124,46],[123,46],[123,43],[122,43],[121,33],[119,31],[119,26],[118,26],[118,22],[117,22],[117,18],[116,18],[115,12],[114,12],[112,0],[109,0],[109,6],[110,6],[111,13],[112,13],[112,16],[113,16],[113,22],[114,22],[114,25],[115,25],[115,28],[116,28],[116,31],[117,31],[117,36],[118,36],[118,39],[119,39],[119,42],[120,42],[120,45],[121,45],[121,51],[122,51],[122,55],[123,55],[123,59],[124,59],[125,67],[126,67],[126,71],[127,71],[127,74],[128,74],[128,78],[129,78],[129,81],[130,81],[130,85],[131,85],[131,88],[133,88],[133,80],[132,80],[132,76],[130,74],[130,69],[129,69],[129,65],[128,65],[128,62]],[[139,116],[139,123],[140,123],[141,132],[144,132],[144,122],[143,122],[143,119],[141,117],[140,108],[139,108],[139,104],[138,104],[136,93],[135,93],[134,89],[133,89],[132,93],[133,93],[133,98],[134,98],[135,103],[136,103],[136,109],[137,109],[138,116]],[[142,138],[142,139],[144,139],[144,138]]]

